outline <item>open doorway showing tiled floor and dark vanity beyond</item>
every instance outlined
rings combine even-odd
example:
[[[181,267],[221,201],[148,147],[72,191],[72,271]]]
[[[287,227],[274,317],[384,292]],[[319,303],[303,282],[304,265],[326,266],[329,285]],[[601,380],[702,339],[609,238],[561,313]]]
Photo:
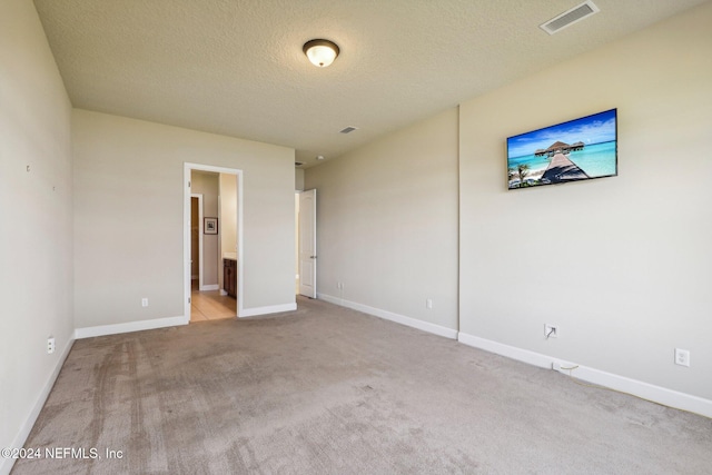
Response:
[[[185,171],[186,323],[235,318],[243,307],[241,170],[186,164]]]

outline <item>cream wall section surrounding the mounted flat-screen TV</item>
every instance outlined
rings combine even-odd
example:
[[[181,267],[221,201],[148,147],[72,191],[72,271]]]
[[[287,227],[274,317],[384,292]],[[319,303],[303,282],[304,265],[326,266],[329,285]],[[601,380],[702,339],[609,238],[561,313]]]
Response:
[[[461,106],[464,334],[712,399],[711,24],[706,3]],[[619,177],[507,191],[506,137],[610,108]]]

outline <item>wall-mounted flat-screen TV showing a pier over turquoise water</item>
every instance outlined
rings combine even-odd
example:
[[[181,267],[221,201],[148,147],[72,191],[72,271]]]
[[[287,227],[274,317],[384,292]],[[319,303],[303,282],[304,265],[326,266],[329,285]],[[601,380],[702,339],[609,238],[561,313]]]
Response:
[[[507,139],[510,189],[617,174],[617,109]]]

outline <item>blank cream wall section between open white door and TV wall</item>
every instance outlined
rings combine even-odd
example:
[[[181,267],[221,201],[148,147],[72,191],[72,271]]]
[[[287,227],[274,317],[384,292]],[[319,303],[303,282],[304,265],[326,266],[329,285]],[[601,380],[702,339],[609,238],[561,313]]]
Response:
[[[456,109],[306,169],[305,188],[322,298],[456,330]]]

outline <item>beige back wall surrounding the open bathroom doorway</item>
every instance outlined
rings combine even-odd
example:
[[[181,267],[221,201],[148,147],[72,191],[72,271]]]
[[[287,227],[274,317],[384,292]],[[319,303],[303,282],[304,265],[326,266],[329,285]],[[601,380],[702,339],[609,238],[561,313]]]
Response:
[[[79,109],[72,140],[78,328],[184,316],[185,162],[244,170],[244,308],[294,305],[293,149]]]

